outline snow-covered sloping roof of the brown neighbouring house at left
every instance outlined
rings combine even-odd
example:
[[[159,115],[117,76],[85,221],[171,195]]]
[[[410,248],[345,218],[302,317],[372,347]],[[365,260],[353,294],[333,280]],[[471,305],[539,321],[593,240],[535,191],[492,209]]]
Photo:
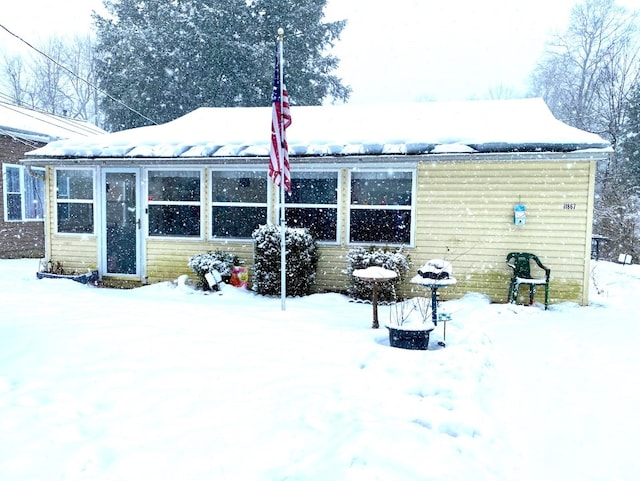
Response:
[[[101,128],[84,120],[59,117],[0,102],[0,135],[48,143],[104,133]]]

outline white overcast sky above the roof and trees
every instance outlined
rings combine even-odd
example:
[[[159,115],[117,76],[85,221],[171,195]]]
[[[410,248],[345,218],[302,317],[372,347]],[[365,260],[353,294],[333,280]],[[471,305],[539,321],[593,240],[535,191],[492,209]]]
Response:
[[[565,28],[575,3],[328,0],[327,18],[348,20],[334,53],[338,75],[353,88],[351,103],[466,100],[499,88],[524,95],[545,40]],[[640,7],[640,0],[617,3]],[[101,6],[101,0],[19,0],[2,11],[0,23],[35,42],[88,29],[91,10]],[[15,42],[0,31],[0,44]]]

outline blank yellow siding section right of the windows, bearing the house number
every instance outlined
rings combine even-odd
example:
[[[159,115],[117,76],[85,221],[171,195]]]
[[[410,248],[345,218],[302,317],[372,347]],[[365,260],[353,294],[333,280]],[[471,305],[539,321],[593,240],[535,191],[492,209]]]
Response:
[[[506,254],[533,252],[551,268],[552,302],[587,303],[594,171],[594,161],[421,163],[414,264],[447,259],[458,284],[444,295],[481,292],[504,302]],[[513,223],[519,203],[524,226]]]

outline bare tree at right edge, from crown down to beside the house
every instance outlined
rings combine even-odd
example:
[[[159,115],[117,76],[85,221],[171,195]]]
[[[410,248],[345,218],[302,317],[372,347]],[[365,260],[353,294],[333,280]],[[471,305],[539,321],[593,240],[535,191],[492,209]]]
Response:
[[[532,76],[532,93],[559,119],[602,135],[614,147],[610,161],[599,166],[594,212],[594,231],[609,238],[609,259],[632,252],[640,240],[638,187],[630,182],[625,145],[635,137],[629,134],[639,52],[637,12],[614,0],[585,0],[573,8],[567,30],[549,42]]]

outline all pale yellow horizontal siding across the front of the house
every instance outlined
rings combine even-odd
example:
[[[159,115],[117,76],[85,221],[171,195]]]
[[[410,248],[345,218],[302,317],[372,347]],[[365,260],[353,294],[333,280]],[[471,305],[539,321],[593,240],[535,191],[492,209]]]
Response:
[[[403,159],[406,162],[408,159]],[[551,268],[551,301],[588,302],[588,266],[596,161],[423,161],[417,167],[415,244],[407,248],[412,276],[431,258],[452,262],[458,279],[443,290],[445,298],[480,292],[493,301],[506,300],[511,251],[538,254]],[[85,270],[98,263],[96,236],[55,235],[53,169],[47,169],[47,257],[65,267]],[[343,171],[340,218],[348,215],[348,176]],[[205,192],[209,172],[205,169]],[[210,231],[208,194],[203,199],[205,232]],[[513,207],[526,206],[524,226],[513,223]],[[270,203],[275,207],[275,203]],[[569,207],[575,208],[568,209]],[[96,206],[96,208],[100,208]],[[347,277],[345,257],[347,222],[340,225],[339,245],[320,245],[317,290],[341,291]],[[144,241],[146,280],[153,283],[194,276],[187,262],[191,255],[214,250],[236,254],[245,266],[253,264],[253,244],[147,238]],[[423,291],[405,283],[405,295]]]

